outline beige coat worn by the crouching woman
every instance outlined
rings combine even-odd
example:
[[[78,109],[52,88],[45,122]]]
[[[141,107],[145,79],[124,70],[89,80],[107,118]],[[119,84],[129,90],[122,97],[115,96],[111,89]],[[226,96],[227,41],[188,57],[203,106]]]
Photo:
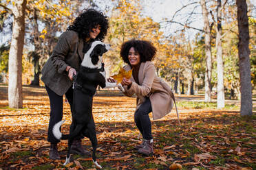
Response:
[[[126,71],[131,70],[131,66],[124,67]],[[173,99],[170,86],[156,75],[156,69],[153,62],[142,62],[138,73],[139,84],[136,84],[134,77],[131,76],[131,87],[125,88],[125,95],[131,97],[134,93],[137,95],[137,107],[149,97],[152,106],[153,119],[161,119],[171,112],[173,108]]]

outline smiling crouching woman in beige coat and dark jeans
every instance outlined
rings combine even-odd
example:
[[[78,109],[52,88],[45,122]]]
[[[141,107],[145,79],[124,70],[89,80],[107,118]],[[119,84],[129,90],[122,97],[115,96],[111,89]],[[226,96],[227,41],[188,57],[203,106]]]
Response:
[[[124,94],[131,97],[135,93],[137,96],[134,121],[143,136],[143,141],[136,149],[138,153],[145,155],[153,154],[149,113],[152,112],[154,120],[160,119],[173,108],[171,88],[156,75],[155,66],[151,62],[155,55],[156,48],[146,40],[129,40],[122,44],[120,50],[122,60],[127,63],[124,69],[132,69],[131,78],[123,78],[121,83],[125,88]]]

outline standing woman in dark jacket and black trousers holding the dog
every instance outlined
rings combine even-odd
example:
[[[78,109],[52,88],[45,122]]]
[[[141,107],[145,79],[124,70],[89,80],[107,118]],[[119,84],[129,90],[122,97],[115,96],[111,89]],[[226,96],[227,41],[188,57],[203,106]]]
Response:
[[[103,13],[93,9],[84,10],[58,38],[52,55],[43,66],[41,80],[45,84],[51,109],[47,137],[47,141],[51,143],[50,159],[60,159],[57,149],[57,143],[60,141],[52,134],[52,128],[63,117],[63,95],[72,110],[72,77],[76,75],[90,43],[103,40],[108,27],[109,21]],[[83,149],[81,138],[74,141],[72,153],[89,154],[89,151]]]

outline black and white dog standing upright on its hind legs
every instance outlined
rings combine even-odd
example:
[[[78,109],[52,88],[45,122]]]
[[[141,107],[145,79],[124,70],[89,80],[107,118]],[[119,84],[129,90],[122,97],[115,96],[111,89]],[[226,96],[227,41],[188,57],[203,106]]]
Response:
[[[85,53],[80,70],[74,79],[70,134],[61,134],[60,132],[60,127],[65,120],[54,125],[54,136],[58,139],[68,139],[68,151],[64,165],[67,165],[70,162],[70,148],[74,138],[83,135],[89,138],[92,143],[92,159],[94,165],[101,169],[101,166],[98,165],[98,162],[96,161],[96,147],[98,142],[96,138],[94,117],[92,115],[93,95],[95,94],[98,85],[102,88],[118,86],[120,90],[124,91],[121,84],[107,82],[105,77],[102,56],[103,53],[109,50],[109,48],[109,45],[105,45],[103,42],[94,41],[87,53]]]

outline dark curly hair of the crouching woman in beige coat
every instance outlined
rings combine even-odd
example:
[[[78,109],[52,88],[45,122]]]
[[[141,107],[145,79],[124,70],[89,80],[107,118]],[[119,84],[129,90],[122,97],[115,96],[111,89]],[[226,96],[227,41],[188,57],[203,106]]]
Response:
[[[131,65],[128,58],[131,47],[134,47],[134,50],[140,54],[140,62],[152,61],[157,51],[156,47],[147,40],[128,40],[122,43],[120,56],[129,65]]]

